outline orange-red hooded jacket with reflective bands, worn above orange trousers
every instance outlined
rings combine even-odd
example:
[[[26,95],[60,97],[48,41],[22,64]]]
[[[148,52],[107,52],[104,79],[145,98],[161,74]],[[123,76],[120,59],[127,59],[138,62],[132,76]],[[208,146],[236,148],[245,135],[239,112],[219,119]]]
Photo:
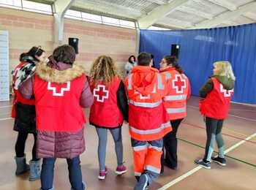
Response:
[[[140,93],[136,90],[138,88],[135,84],[145,79],[139,75],[144,70],[151,72],[151,78],[146,79],[151,80],[151,84],[145,86],[145,91]],[[132,74],[127,77],[125,86],[129,97],[129,133],[133,139],[159,140],[172,130],[162,103],[166,94],[165,82],[165,77],[162,77],[157,69],[148,66],[135,66]],[[147,95],[144,94],[146,91]]]

